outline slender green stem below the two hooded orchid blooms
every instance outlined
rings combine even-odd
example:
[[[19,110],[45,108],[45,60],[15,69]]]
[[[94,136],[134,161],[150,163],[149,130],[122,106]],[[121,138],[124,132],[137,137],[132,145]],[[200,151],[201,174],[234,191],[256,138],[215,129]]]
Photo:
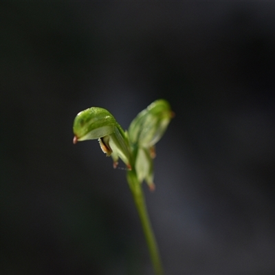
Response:
[[[146,208],[146,203],[144,199],[144,194],[142,191],[142,185],[137,179],[135,170],[129,170],[127,172],[127,181],[130,186],[133,199],[135,201],[135,206],[137,212],[140,216],[140,221],[142,223],[142,229],[145,235],[146,243],[148,245],[149,254],[151,256],[151,261],[156,275],[163,275],[164,271],[162,268],[162,261],[159,256],[159,250],[157,248],[157,242],[155,241],[155,235],[151,227],[150,219],[148,217],[148,212]]]

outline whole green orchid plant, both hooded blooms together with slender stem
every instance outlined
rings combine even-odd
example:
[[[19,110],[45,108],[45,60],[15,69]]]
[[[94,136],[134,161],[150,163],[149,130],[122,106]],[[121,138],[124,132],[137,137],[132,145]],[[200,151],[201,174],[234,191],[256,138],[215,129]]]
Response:
[[[74,144],[83,140],[98,140],[102,151],[113,158],[114,168],[118,165],[119,158],[126,164],[127,181],[140,215],[156,275],[163,275],[162,262],[148,218],[141,184],[142,181],[146,181],[150,190],[155,189],[155,144],[164,135],[171,118],[173,111],[170,110],[170,104],[160,99],[137,114],[128,132],[122,130],[109,111],[99,107],[91,107],[78,113],[73,126]]]

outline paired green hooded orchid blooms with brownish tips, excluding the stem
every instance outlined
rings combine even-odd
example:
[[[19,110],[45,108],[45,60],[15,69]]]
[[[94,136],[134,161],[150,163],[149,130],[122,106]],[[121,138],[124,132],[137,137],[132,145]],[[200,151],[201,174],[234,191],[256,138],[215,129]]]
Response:
[[[109,111],[91,107],[76,115],[74,144],[98,139],[102,151],[113,158],[114,168],[118,165],[118,159],[122,159],[127,168],[135,168],[140,183],[145,180],[154,190],[155,144],[166,131],[171,118],[173,111],[170,104],[163,99],[155,100],[131,122],[129,132],[124,132]]]

